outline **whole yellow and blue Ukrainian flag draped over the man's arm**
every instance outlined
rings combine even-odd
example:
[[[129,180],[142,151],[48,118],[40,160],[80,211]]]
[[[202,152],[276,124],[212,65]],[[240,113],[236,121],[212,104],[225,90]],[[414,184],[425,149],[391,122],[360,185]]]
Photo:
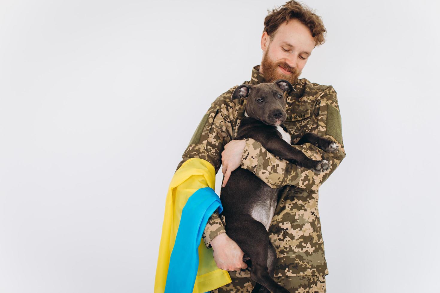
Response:
[[[154,293],[204,293],[231,282],[202,239],[208,218],[223,207],[214,192],[215,170],[204,159],[185,161],[165,200]]]

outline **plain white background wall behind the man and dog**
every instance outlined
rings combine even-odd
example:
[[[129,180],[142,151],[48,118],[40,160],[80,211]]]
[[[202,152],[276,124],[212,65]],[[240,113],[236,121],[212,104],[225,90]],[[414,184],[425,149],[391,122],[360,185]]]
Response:
[[[152,292],[165,195],[284,1],[0,1],[0,292]],[[338,94],[327,292],[438,292],[439,4],[308,0]],[[221,169],[216,192],[220,191]]]

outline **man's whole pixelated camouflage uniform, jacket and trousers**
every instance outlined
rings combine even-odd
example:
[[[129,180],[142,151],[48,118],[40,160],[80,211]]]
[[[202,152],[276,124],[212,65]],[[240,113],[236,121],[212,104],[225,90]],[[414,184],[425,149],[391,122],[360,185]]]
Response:
[[[266,82],[258,71],[259,67],[253,67],[251,80],[244,81],[244,84]],[[224,145],[238,133],[246,109],[246,99],[231,100],[236,87],[238,85],[221,94],[211,104],[191,137],[177,169],[187,159],[200,158],[211,163],[218,172]],[[339,150],[335,153],[324,152],[309,143],[293,147],[309,158],[327,160],[329,169],[316,174],[299,168],[272,155],[252,138],[246,139],[240,167],[251,171],[272,188],[283,187],[268,230],[277,252],[275,281],[291,292],[309,292],[309,288],[313,288],[310,292],[325,292],[328,269],[319,221],[318,188],[345,157],[341,115],[337,94],[332,86],[311,83],[302,78],[293,87],[296,91],[285,94],[287,119],[283,123],[291,135],[292,143],[296,143],[304,133],[313,132],[337,143]],[[211,249],[211,240],[225,232],[226,221],[217,212],[209,218],[202,235],[208,249]],[[229,271],[229,274],[232,282],[212,292],[252,291],[255,282],[250,279],[249,269]]]

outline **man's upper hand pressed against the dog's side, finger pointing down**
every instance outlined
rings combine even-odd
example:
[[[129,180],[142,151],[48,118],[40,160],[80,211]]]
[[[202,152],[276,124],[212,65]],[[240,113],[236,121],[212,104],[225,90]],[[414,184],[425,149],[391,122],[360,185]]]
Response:
[[[244,139],[239,141],[233,139],[224,145],[224,150],[221,152],[221,163],[223,165],[221,172],[224,175],[222,187],[226,185],[231,172],[240,166],[245,145],[246,141]]]

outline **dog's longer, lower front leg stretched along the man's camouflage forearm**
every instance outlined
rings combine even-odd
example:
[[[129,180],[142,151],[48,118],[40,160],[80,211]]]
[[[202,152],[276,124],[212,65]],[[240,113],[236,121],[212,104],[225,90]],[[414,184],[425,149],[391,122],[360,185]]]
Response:
[[[326,160],[313,160],[308,158],[303,152],[297,148],[293,148],[288,142],[280,137],[271,137],[270,139],[267,139],[263,147],[273,155],[286,159],[298,167],[310,169],[315,173],[325,171],[330,166],[329,162]]]

